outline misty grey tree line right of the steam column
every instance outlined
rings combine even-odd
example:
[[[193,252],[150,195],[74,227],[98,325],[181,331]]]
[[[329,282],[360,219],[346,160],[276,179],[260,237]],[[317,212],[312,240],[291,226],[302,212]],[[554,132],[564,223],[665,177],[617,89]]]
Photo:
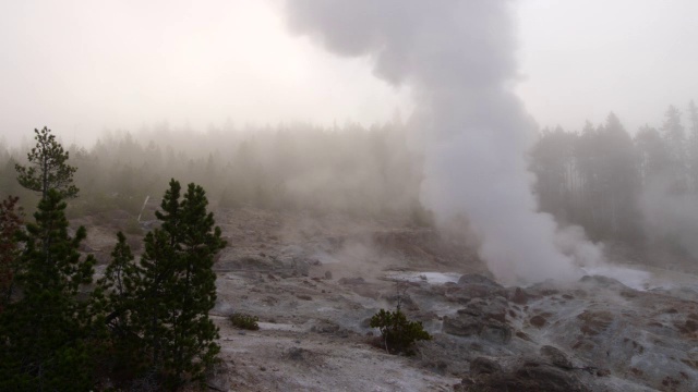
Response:
[[[698,196],[698,108],[671,106],[660,127],[634,136],[614,113],[580,132],[543,130],[530,167],[542,210],[594,240],[646,243],[645,195],[659,192],[664,203]]]

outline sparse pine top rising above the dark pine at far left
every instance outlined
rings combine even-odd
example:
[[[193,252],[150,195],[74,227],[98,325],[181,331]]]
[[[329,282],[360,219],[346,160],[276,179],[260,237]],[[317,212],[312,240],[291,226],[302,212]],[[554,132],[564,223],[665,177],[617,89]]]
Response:
[[[17,181],[25,188],[40,193],[41,198],[46,198],[49,189],[56,189],[63,198],[75,197],[77,187],[73,185],[73,173],[76,169],[65,162],[68,151],[46,126],[34,133],[36,146],[27,154],[29,167],[15,164]]]

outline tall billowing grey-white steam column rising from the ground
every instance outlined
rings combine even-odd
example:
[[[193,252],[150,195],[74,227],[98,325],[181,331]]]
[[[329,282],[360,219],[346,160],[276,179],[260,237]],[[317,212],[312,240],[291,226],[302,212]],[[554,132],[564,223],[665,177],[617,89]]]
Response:
[[[533,124],[512,93],[517,77],[510,2],[290,0],[292,28],[374,73],[407,84],[425,148],[423,201],[442,220],[465,212],[480,255],[502,281],[576,275],[599,258],[578,231],[537,212],[525,152]]]

